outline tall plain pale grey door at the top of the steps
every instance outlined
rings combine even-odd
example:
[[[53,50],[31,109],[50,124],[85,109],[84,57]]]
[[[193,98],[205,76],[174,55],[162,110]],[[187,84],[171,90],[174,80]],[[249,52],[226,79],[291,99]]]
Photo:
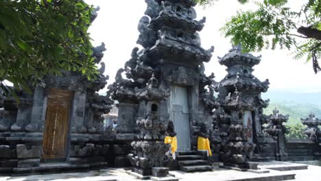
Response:
[[[170,97],[171,121],[177,133],[178,151],[191,150],[191,135],[189,128],[189,101],[187,88],[172,86]]]

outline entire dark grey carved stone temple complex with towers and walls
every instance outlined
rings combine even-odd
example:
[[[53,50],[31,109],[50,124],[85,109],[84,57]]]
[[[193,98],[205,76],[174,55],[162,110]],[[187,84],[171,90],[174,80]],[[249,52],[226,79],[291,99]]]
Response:
[[[321,120],[302,119],[309,137],[291,140],[288,115],[263,114],[269,101],[261,93],[270,83],[252,74],[261,57],[233,46],[218,60],[227,73],[216,82],[204,73],[214,47],[201,45],[206,18],[197,18],[194,1],[145,2],[137,40],[143,49],[134,47],[107,95],[97,93],[108,80],[102,62],[94,82],[64,72],[45,77],[33,95],[17,90],[19,101],[1,100],[0,173],[132,167],[141,176],[163,176],[168,169],[210,171],[213,162],[255,170],[260,161],[318,159]],[[104,43],[93,47],[96,63],[105,50]],[[114,103],[117,128],[102,117]],[[166,136],[177,141],[174,155]]]

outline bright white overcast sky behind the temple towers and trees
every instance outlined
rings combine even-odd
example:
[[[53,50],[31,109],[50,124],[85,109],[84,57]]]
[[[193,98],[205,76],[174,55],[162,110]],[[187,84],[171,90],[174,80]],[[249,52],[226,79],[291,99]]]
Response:
[[[89,32],[93,38],[93,45],[97,46],[104,42],[107,51],[104,52],[102,61],[106,63],[106,75],[110,76],[108,84],[115,81],[115,75],[119,68],[130,59],[130,53],[134,47],[139,47],[136,40],[139,37],[137,25],[147,5],[144,0],[85,0],[86,3],[99,6],[97,19],[93,22]],[[300,1],[291,1],[292,7],[302,5]],[[230,16],[236,14],[237,10],[255,10],[252,3],[241,5],[236,0],[221,0],[210,7],[197,6],[197,20],[206,16],[205,27],[199,32],[202,47],[209,49],[215,47],[213,57],[205,64],[205,73],[215,73],[215,80],[219,82],[226,75],[226,67],[218,63],[217,56],[224,56],[231,49],[230,39],[224,38],[219,28],[228,21]],[[292,93],[307,93],[321,91],[321,73],[313,72],[312,63],[305,63],[305,59],[294,60],[292,51],[288,50],[263,50],[253,53],[262,56],[261,63],[254,67],[253,75],[259,80],[270,80],[269,90],[282,90]],[[106,88],[99,93],[106,93]]]

